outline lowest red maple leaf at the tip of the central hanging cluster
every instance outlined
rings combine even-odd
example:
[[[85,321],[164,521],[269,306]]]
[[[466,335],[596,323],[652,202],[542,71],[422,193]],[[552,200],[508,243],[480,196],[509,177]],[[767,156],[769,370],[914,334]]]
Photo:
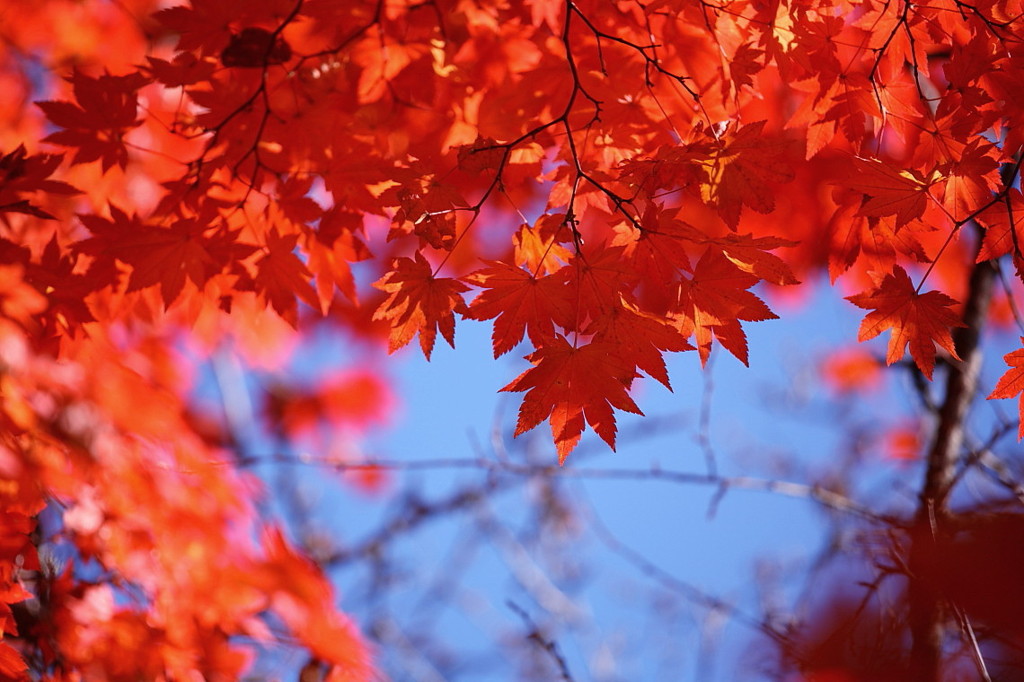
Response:
[[[519,408],[515,435],[548,419],[558,447],[558,463],[564,464],[580,442],[586,421],[614,450],[612,408],[635,415],[643,413],[627,390],[638,375],[613,350],[614,346],[604,343],[574,348],[559,335],[551,345],[527,355],[534,367],[502,388],[527,391]]]

